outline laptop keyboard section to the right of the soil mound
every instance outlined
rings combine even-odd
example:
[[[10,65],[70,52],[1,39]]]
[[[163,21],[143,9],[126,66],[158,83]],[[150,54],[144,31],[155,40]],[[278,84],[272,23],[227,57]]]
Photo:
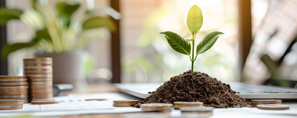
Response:
[[[240,93],[297,93],[297,89],[294,88],[282,88],[282,87],[269,87],[258,85],[246,85],[246,84],[230,84],[231,89]]]

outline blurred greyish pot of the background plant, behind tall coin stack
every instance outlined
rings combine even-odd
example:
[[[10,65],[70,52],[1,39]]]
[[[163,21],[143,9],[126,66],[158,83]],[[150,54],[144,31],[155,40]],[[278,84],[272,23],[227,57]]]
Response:
[[[36,58],[53,58],[53,84],[72,84],[76,88],[85,86],[86,79],[83,73],[82,50],[68,53],[35,54]]]

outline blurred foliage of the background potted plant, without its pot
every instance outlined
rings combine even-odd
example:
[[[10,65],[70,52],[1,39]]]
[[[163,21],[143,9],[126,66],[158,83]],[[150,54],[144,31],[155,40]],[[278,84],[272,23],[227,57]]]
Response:
[[[115,25],[109,18],[96,13],[106,11],[103,8],[86,10],[83,14],[78,14],[80,17],[77,20],[74,16],[81,5],[78,2],[58,2],[55,9],[49,5],[41,5],[38,0],[32,2],[33,8],[26,11],[0,8],[0,25],[9,20],[20,19],[35,31],[30,42],[4,46],[1,50],[2,57],[30,47],[45,53],[66,53],[82,49],[88,41],[99,38],[102,35],[101,28],[115,30]]]

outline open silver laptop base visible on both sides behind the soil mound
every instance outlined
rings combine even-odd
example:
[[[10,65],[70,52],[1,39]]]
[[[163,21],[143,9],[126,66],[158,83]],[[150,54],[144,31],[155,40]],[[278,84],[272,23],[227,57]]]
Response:
[[[122,92],[145,99],[163,83],[115,84]],[[244,83],[227,83],[235,93],[245,99],[297,99],[296,88],[265,85],[248,85]]]

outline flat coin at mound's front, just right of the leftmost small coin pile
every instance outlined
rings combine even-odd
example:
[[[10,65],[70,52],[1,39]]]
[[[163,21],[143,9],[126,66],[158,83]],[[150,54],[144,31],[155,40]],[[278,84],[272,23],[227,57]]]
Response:
[[[168,110],[171,109],[173,104],[170,103],[147,103],[141,104],[140,108],[142,110]]]

